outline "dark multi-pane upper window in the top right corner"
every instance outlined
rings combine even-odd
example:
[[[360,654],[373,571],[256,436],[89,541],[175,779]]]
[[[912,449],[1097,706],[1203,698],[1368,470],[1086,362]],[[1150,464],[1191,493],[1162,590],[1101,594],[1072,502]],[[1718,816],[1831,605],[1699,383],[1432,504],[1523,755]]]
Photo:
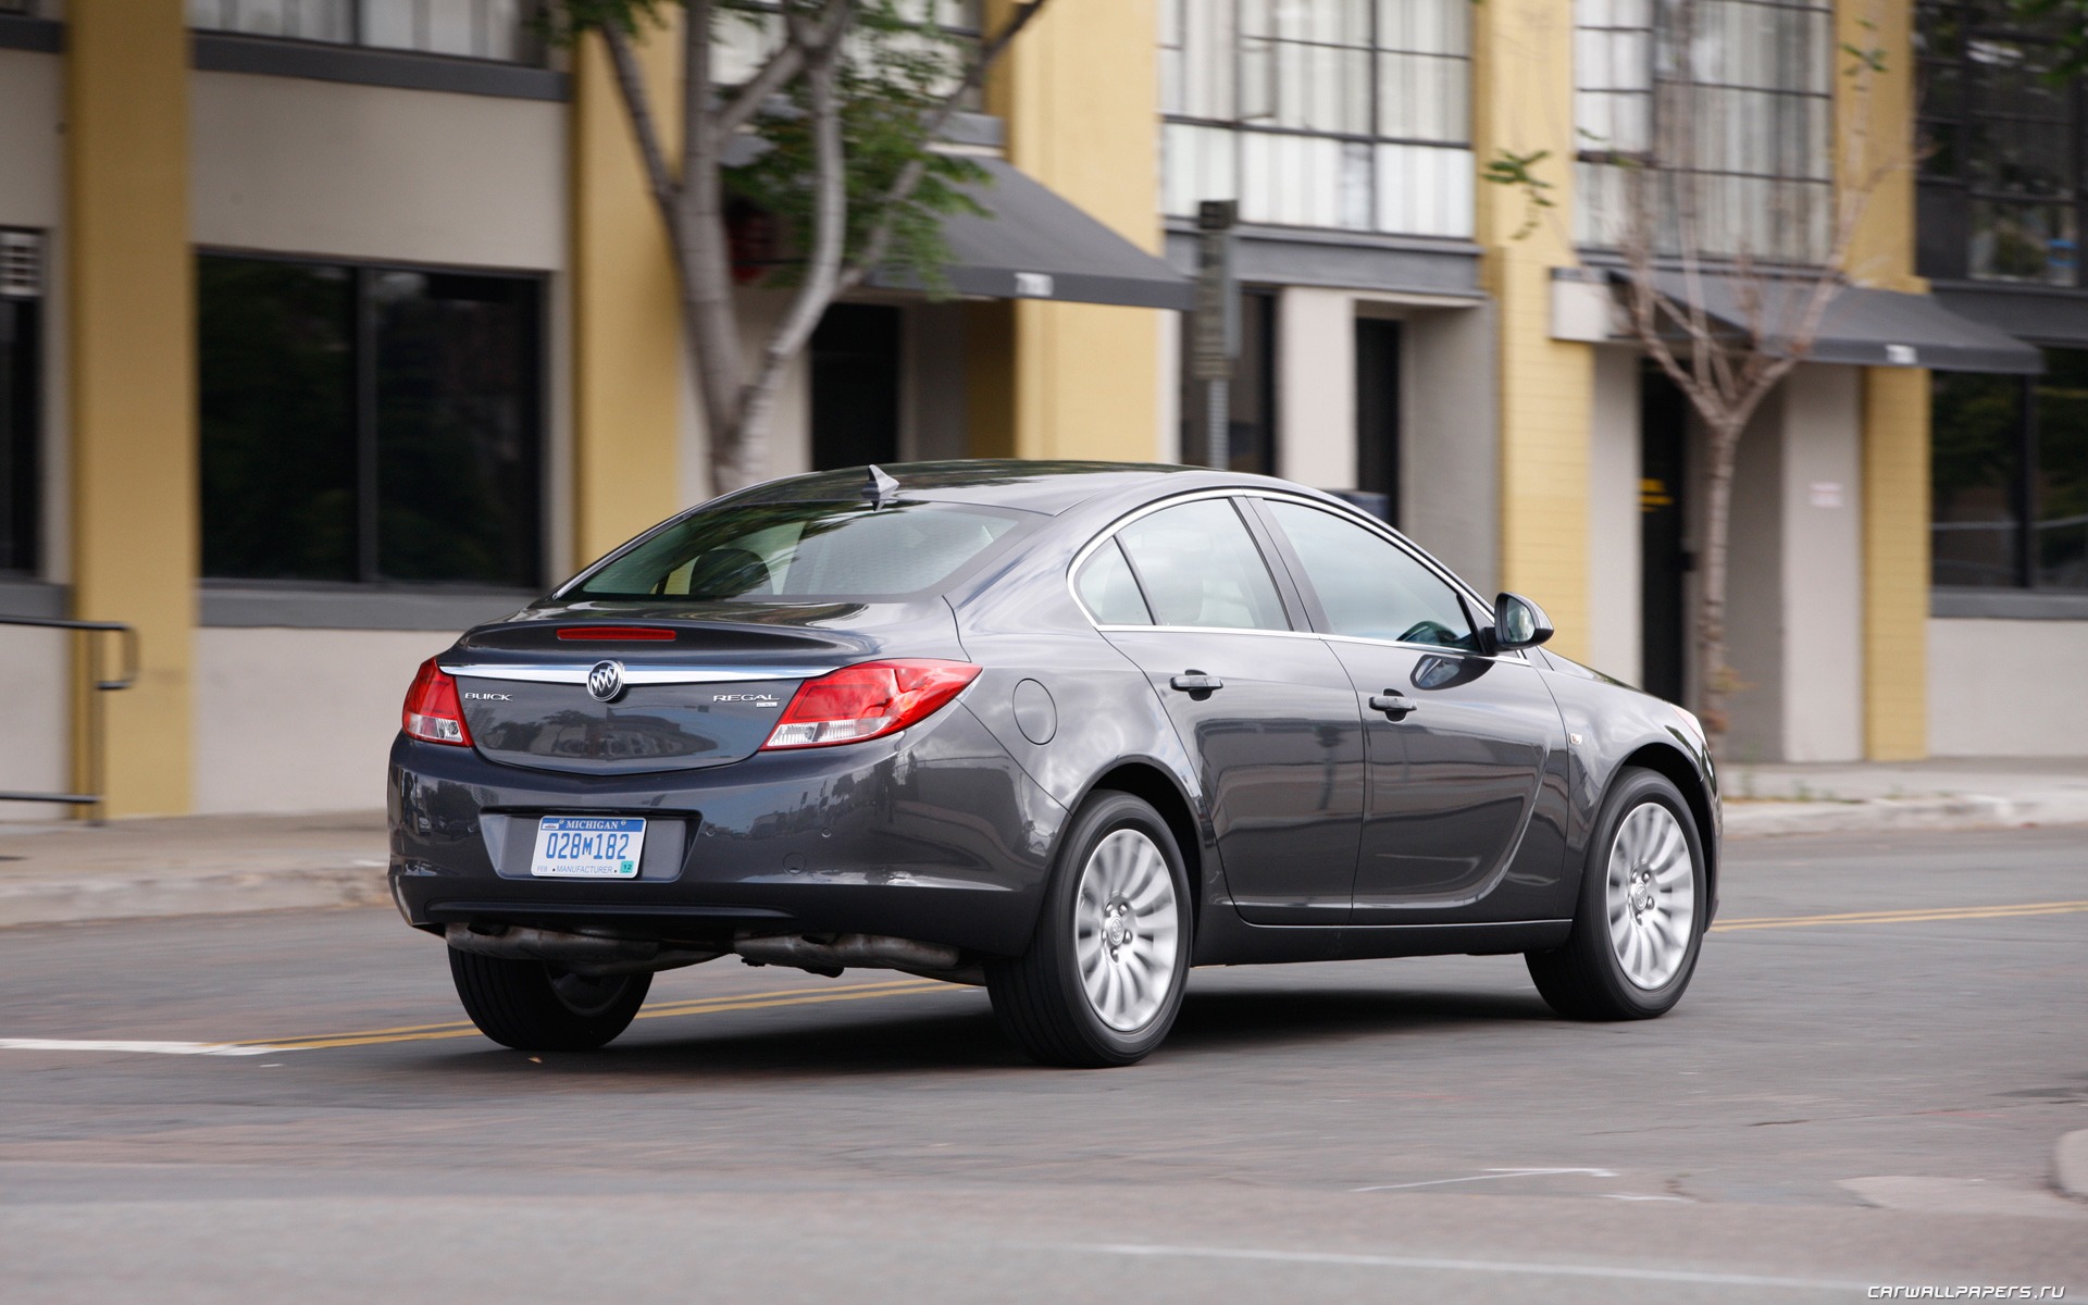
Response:
[[[2078,286],[2088,90],[2053,86],[2057,23],[2002,0],[1921,0],[1921,271]]]

